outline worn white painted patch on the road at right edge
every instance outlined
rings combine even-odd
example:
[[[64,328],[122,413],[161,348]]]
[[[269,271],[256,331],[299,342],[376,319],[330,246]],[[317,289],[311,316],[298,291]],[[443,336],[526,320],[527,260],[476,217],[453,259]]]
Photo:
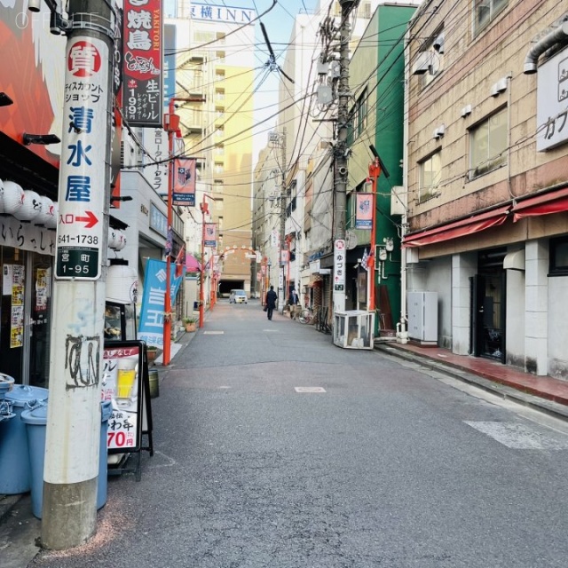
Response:
[[[475,422],[466,424],[483,432],[503,446],[515,450],[565,450],[568,449],[568,437],[554,436],[525,426],[519,422]]]

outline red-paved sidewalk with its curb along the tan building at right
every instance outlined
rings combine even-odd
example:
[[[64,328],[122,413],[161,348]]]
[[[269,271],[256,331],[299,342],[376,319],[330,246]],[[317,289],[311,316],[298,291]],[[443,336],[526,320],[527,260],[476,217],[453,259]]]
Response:
[[[533,406],[548,414],[568,420],[568,382],[551,376],[536,376],[498,361],[454,355],[440,347],[422,347],[415,343],[375,343],[383,351],[420,363],[424,367],[442,370],[467,383]]]

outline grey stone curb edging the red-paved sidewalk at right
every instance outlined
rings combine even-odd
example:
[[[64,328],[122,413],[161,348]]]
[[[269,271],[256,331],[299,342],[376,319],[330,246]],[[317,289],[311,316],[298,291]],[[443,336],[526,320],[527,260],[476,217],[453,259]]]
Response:
[[[528,406],[534,410],[538,410],[539,412],[568,422],[568,406],[548,400],[547,398],[540,398],[523,390],[518,390],[514,387],[497,383],[481,375],[472,374],[459,367],[438,362],[438,360],[435,361],[434,359],[423,357],[416,353],[410,353],[408,351],[397,349],[396,347],[390,347],[388,343],[375,344],[375,351],[382,351],[383,353],[398,359],[405,359],[407,361],[419,363],[422,367],[444,373],[454,379],[460,380],[462,383],[477,386],[480,389],[491,392],[503,399],[513,400],[518,404]]]

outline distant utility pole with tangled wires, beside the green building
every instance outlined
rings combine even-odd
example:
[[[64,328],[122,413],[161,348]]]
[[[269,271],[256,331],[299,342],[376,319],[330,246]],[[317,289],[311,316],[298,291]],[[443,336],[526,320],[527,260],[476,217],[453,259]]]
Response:
[[[349,17],[359,0],[339,0],[341,25],[339,28],[339,87],[337,106],[337,143],[335,145],[335,211],[334,211],[334,312],[345,310],[345,217],[347,212],[347,133],[349,130]]]

